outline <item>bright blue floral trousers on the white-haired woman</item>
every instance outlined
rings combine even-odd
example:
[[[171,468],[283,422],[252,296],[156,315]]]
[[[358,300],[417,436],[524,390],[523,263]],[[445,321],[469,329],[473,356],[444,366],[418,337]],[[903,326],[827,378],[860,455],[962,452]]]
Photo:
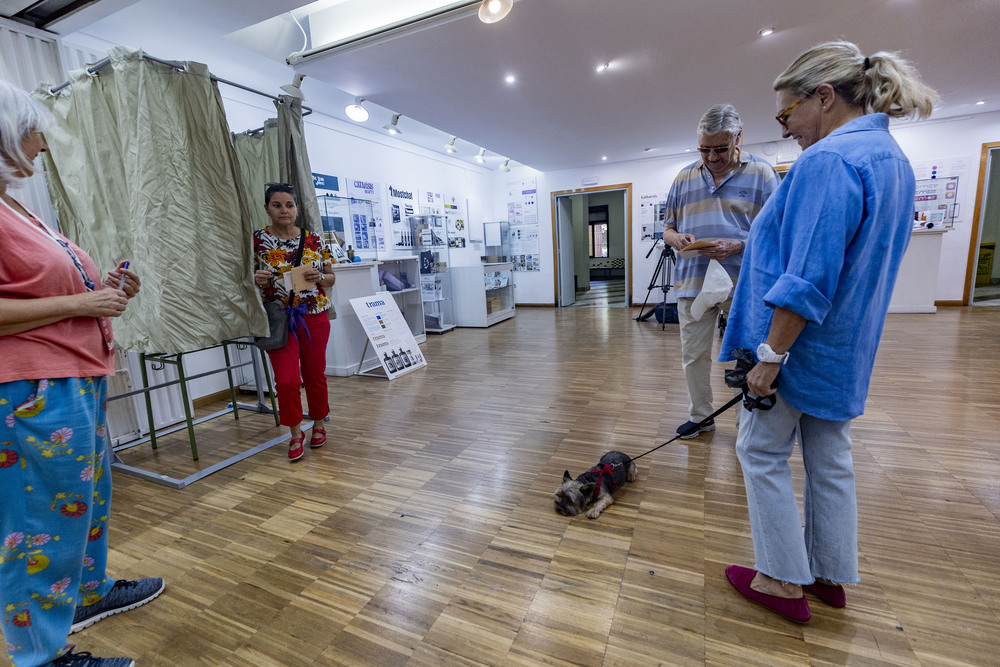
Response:
[[[69,650],[76,607],[114,586],[106,391],[104,377],[0,383],[0,627],[18,667]]]

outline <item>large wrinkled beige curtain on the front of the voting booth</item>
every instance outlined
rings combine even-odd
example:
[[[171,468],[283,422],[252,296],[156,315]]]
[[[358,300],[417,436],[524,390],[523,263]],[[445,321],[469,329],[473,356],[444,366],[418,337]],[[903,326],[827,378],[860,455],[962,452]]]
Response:
[[[210,73],[125,47],[109,57],[100,76],[80,70],[56,96],[48,84],[36,95],[56,117],[43,155],[63,232],[102,271],[127,259],[142,278],[115,323],[118,344],[178,353],[266,335],[253,223]]]

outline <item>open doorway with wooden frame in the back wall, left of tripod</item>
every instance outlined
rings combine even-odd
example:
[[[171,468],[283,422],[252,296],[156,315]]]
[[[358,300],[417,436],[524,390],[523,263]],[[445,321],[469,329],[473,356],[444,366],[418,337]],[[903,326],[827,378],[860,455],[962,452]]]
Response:
[[[627,308],[632,184],[552,193],[555,303]]]

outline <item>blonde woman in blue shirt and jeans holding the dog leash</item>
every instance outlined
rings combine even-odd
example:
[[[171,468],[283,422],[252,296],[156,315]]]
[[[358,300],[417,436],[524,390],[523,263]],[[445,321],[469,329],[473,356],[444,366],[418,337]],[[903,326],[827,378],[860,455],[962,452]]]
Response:
[[[782,136],[803,153],[751,228],[722,344],[720,361],[757,352],[749,389],[776,400],[741,418],[756,569],[726,575],[801,623],[803,589],[842,607],[841,584],[859,581],[850,423],[864,411],[913,219],[913,170],[889,116],[927,116],[937,95],[896,54],[865,57],[849,42],[806,51],[774,89]],[[788,465],[796,437],[804,532]]]

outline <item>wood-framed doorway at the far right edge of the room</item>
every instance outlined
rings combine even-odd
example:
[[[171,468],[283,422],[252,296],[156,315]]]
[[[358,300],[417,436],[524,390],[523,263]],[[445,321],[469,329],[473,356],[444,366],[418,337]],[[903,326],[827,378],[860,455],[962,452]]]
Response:
[[[1000,142],[983,145],[973,224],[965,303],[1000,306]]]

